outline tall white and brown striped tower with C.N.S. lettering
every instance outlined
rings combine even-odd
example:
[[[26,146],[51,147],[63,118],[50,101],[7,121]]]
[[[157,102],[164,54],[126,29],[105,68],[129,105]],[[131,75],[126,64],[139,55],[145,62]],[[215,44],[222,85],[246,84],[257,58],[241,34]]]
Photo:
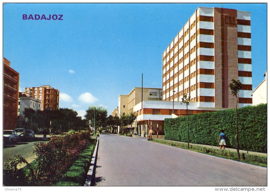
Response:
[[[239,79],[239,107],[252,105],[250,13],[199,7],[163,52],[163,100],[185,93],[198,107],[234,108],[229,84]]]

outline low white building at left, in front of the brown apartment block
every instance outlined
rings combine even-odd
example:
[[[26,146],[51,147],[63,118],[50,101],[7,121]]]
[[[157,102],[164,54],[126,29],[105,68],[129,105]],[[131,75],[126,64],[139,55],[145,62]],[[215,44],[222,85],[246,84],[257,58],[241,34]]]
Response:
[[[28,120],[26,118],[24,118],[24,109],[25,108],[31,108],[35,111],[40,110],[41,109],[41,101],[38,99],[34,99],[32,97],[26,97],[26,96],[21,96],[20,94],[20,102],[18,105],[19,110],[19,115],[18,115],[18,119],[17,119],[17,123],[16,123],[16,127],[17,128],[22,128],[25,127],[26,125],[29,126],[27,124]],[[36,126],[34,124],[31,124],[31,126]],[[32,127],[31,127],[32,128]]]

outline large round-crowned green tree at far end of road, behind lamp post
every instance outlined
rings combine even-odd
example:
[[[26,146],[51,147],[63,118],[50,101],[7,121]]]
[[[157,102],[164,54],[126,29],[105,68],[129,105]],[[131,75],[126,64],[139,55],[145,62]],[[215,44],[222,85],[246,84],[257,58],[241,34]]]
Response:
[[[91,120],[91,125],[95,127],[105,127],[107,119],[107,110],[103,107],[89,106],[86,110],[85,119]],[[96,131],[96,130],[95,130]]]

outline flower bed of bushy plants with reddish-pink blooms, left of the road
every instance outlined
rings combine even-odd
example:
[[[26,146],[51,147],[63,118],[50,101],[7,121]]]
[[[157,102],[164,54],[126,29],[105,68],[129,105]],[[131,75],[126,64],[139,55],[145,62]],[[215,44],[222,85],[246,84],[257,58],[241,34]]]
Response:
[[[6,167],[12,170],[12,175],[18,171],[18,163],[26,163],[28,170],[25,181],[28,185],[51,185],[63,176],[83,149],[90,143],[89,132],[75,132],[63,136],[54,136],[46,143],[35,143],[34,153],[37,158],[29,164],[22,157],[10,160]]]

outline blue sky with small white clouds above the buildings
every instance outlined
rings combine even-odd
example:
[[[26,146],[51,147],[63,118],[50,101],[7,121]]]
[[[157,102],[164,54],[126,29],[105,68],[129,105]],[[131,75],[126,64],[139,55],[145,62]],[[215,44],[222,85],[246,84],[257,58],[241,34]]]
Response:
[[[134,87],[162,88],[162,53],[198,7],[251,12],[252,86],[267,70],[267,4],[3,5],[3,57],[20,74],[19,89],[50,85],[59,107],[84,116],[88,106],[110,114]],[[23,20],[23,14],[63,20]]]

